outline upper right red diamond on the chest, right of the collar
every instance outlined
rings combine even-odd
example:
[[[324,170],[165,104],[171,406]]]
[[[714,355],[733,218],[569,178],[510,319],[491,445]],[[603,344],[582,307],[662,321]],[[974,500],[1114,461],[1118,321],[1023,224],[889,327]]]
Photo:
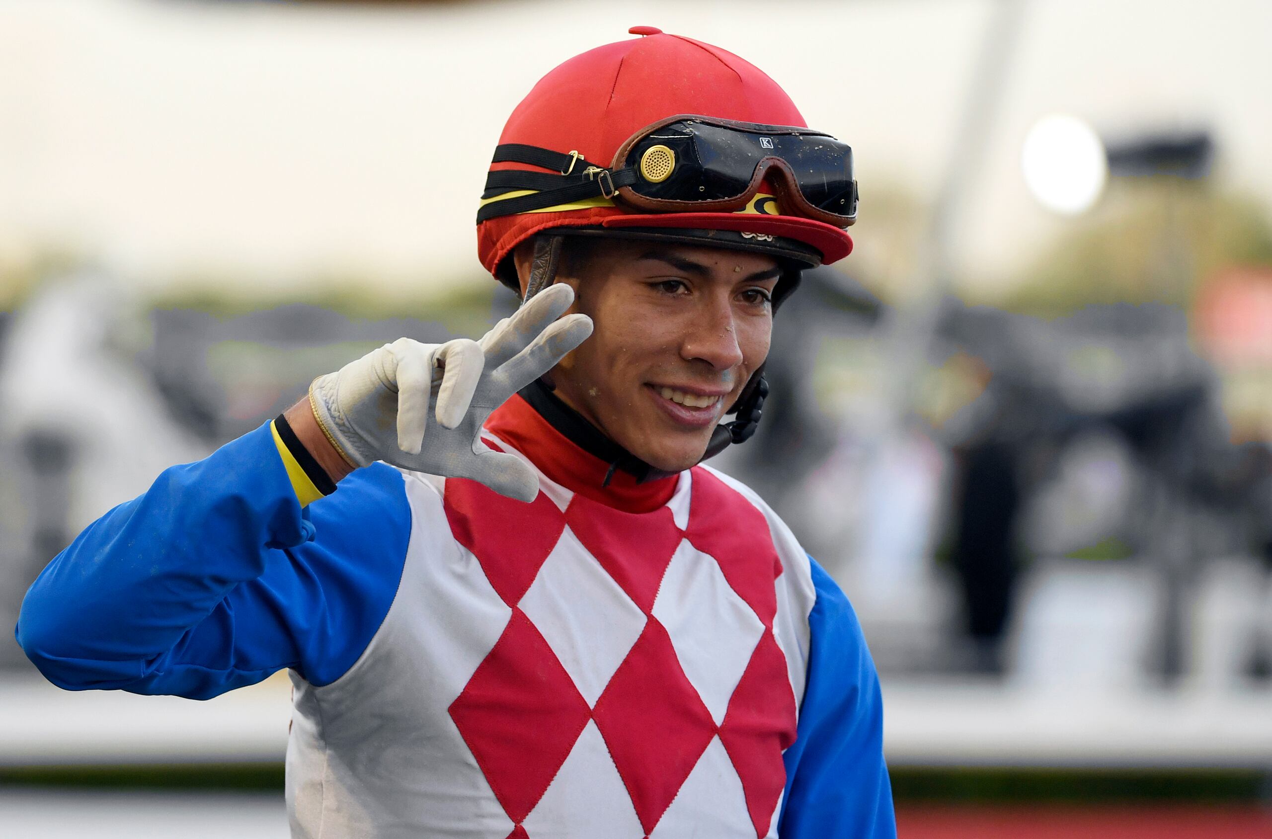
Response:
[[[764,626],[772,626],[777,612],[773,578],[781,574],[782,563],[763,514],[719,477],[695,469],[684,536],[715,558],[738,596]]]

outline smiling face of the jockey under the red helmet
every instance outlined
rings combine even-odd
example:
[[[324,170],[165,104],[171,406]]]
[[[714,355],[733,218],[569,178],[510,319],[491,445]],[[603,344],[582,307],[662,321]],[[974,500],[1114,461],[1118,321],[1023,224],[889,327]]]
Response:
[[[528,248],[516,262],[524,288]],[[552,370],[557,396],[645,462],[693,466],[768,355],[777,260],[608,239],[566,262],[571,311],[595,328]]]

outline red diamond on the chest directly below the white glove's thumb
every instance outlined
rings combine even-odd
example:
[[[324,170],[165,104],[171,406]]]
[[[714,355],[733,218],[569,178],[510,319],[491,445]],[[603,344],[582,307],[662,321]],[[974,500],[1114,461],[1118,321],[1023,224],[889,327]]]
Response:
[[[445,509],[450,532],[509,606],[525,595],[565,530],[565,516],[543,493],[527,504],[463,477],[446,479]]]

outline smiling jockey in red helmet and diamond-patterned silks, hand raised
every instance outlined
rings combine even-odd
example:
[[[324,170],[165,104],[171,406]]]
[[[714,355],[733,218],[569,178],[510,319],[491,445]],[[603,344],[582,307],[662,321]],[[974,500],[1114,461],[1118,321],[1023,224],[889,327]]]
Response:
[[[738,56],[631,32],[495,149],[478,257],[515,314],[319,377],[25,597],[70,690],[286,668],[294,836],[895,835],[848,601],[702,463],[761,420],[800,271],[852,247],[852,153]]]

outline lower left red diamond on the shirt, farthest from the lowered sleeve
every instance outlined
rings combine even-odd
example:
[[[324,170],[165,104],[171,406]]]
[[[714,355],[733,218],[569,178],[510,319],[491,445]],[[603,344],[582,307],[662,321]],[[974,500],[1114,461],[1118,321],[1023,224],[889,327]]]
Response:
[[[588,724],[588,703],[534,624],[513,610],[450,718],[508,817],[520,824]]]

